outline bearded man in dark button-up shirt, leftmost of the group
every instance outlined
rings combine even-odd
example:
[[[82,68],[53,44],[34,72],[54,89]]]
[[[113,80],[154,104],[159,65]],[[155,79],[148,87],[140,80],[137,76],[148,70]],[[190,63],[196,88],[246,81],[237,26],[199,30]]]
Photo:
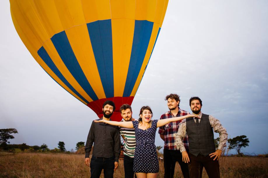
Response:
[[[110,120],[115,110],[115,104],[112,101],[106,101],[102,106],[102,110],[103,117],[101,119]],[[93,143],[94,147],[90,160],[89,154]],[[90,165],[91,177],[100,177],[102,169],[104,170],[104,177],[113,177],[113,172],[118,168],[120,152],[119,128],[110,124],[93,121],[85,145],[85,164],[87,166]]]

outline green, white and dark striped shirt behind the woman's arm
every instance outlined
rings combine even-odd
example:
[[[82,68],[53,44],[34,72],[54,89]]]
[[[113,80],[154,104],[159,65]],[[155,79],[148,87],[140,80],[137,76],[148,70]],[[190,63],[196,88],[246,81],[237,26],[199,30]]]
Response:
[[[136,120],[136,119],[135,119]],[[121,122],[124,122],[122,120]],[[136,147],[136,138],[135,138],[135,130],[134,128],[120,128],[121,136],[125,137],[124,140],[124,155],[134,158],[134,152]]]

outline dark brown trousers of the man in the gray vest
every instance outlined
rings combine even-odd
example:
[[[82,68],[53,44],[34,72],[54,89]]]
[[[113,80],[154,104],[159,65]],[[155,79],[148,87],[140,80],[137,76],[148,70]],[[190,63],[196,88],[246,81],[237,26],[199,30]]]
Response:
[[[220,165],[219,161],[213,159],[215,157],[204,156],[202,154],[198,154],[197,156],[189,153],[190,163],[189,170],[191,178],[200,178],[202,177],[203,167],[206,169],[206,173],[211,178],[219,178],[220,177]]]

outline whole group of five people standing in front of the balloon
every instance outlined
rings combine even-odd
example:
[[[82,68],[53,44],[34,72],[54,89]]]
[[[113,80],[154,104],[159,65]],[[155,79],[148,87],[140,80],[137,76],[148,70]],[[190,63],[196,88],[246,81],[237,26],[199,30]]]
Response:
[[[219,120],[201,112],[199,97],[190,98],[192,114],[179,108],[180,97],[167,95],[169,111],[160,120],[151,120],[153,112],[143,106],[139,119],[132,117],[128,104],[120,107],[121,122],[112,121],[115,110],[112,101],[103,104],[103,117],[94,120],[85,145],[85,164],[91,177],[113,177],[118,168],[120,136],[124,139],[124,171],[128,177],[157,177],[159,163],[155,147],[155,133],[164,140],[164,177],[174,177],[175,164],[181,166],[183,177],[202,177],[203,167],[209,177],[220,177],[218,159],[227,141],[226,129]],[[213,130],[220,135],[216,150]],[[94,143],[92,157],[89,158]]]

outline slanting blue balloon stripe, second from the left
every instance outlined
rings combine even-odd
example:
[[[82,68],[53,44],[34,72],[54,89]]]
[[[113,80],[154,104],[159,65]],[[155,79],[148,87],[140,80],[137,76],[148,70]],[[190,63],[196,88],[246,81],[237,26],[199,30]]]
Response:
[[[85,90],[85,92],[90,96],[93,101],[98,100],[98,97],[90,83],[88,82],[82,68],[80,67],[76,56],[73,53],[73,49],[69,43],[65,31],[55,34],[51,38],[59,56],[64,62],[67,69],[71,72],[72,76],[76,79],[79,85]]]

